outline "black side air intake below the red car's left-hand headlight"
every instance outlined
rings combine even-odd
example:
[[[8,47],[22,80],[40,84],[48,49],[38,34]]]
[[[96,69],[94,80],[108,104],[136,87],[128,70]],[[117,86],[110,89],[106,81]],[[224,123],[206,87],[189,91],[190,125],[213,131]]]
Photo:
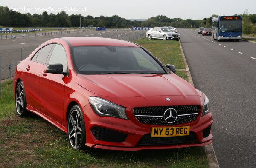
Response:
[[[127,138],[127,134],[121,132],[109,130],[101,127],[92,128],[93,136],[97,140],[107,141],[107,142],[124,142]]]

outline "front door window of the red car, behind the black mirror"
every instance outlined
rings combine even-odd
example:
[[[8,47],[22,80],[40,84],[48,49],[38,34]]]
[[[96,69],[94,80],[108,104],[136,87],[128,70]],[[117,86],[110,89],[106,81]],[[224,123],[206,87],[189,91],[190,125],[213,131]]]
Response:
[[[63,72],[67,72],[67,55],[65,49],[59,45],[56,44],[52,51],[52,56],[49,60],[50,64],[60,63],[63,65]]]

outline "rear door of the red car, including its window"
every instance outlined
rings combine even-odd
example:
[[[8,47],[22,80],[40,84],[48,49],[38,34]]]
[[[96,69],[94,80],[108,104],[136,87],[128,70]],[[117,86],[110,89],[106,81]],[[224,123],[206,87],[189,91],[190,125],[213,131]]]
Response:
[[[26,91],[27,105],[40,111],[39,76],[45,66],[49,52],[53,45],[47,45],[39,49],[36,54],[26,62],[26,69],[23,71],[23,84]],[[33,110],[33,109],[32,109]]]

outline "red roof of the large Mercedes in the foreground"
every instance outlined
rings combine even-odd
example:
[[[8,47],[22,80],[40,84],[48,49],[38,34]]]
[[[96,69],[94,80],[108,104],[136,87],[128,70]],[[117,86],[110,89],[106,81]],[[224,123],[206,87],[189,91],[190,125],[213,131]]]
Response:
[[[103,37],[63,37],[62,40],[70,43],[71,46],[128,46],[128,47],[139,47],[134,43],[103,38]]]

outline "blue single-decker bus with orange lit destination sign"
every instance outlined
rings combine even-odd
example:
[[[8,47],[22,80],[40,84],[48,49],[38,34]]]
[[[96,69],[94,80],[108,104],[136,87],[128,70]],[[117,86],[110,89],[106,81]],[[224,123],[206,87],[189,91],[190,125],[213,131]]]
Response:
[[[212,17],[213,40],[236,40],[242,39],[241,16],[218,16]]]

